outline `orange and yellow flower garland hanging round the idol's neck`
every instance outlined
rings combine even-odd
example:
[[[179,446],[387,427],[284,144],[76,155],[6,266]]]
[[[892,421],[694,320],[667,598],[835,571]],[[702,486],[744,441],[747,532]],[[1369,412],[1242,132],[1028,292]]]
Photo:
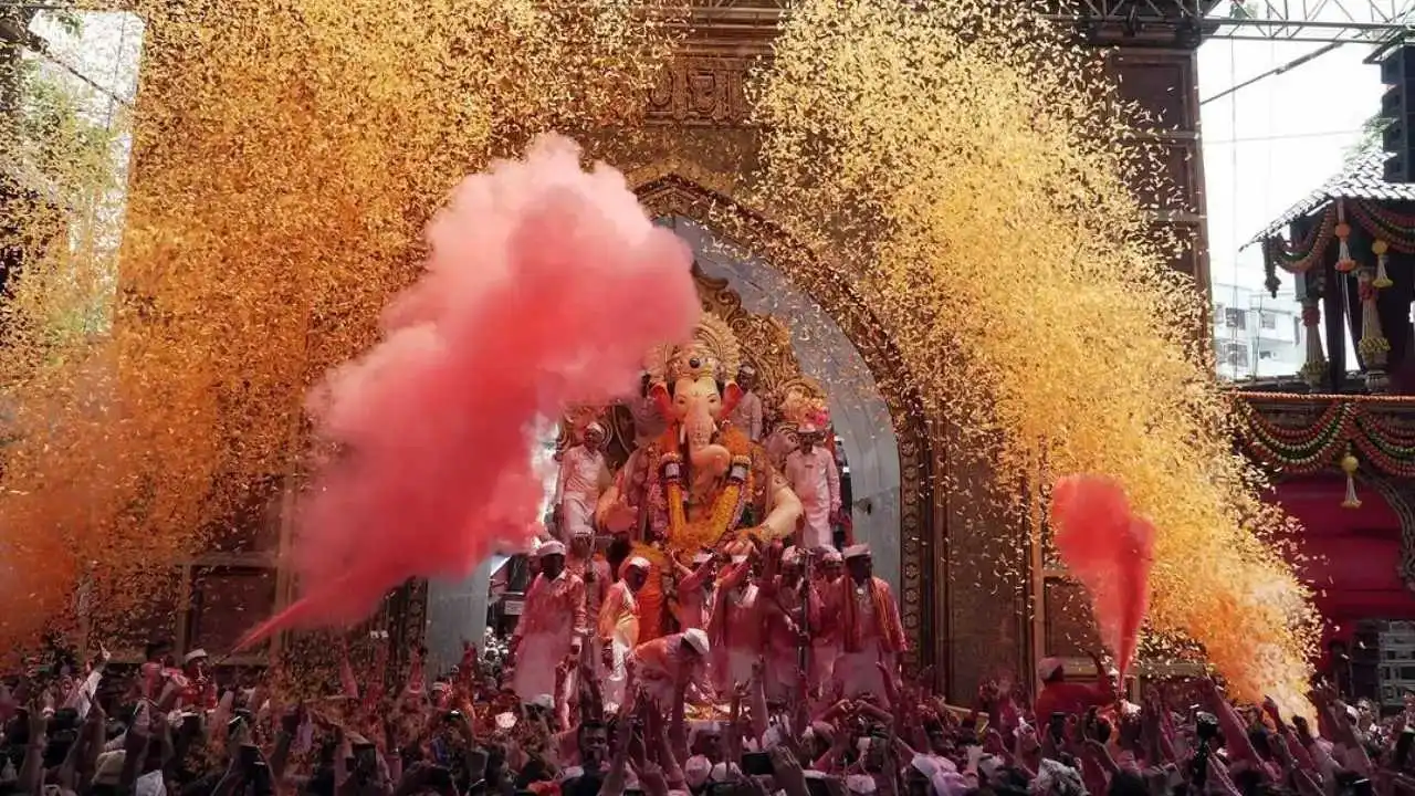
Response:
[[[689,523],[683,508],[683,462],[676,445],[666,445],[671,439],[676,439],[672,431],[665,433],[661,443],[664,453],[659,456],[659,480],[664,486],[664,501],[668,510],[668,538],[665,542],[674,552],[696,552],[717,547],[737,525],[746,506],[744,499],[751,494],[751,439],[733,428],[720,435],[717,443],[732,453],[727,483],[717,491],[708,518],[698,523]]]

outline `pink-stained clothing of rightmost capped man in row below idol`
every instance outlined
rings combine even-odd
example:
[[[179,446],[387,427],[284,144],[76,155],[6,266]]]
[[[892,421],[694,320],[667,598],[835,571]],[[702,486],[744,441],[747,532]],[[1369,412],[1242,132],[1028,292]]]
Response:
[[[841,697],[872,694],[887,704],[889,691],[879,664],[893,671],[899,654],[906,650],[904,625],[889,584],[873,576],[856,584],[843,576],[831,585],[822,608],[822,619],[826,625],[835,623],[838,632],[839,654],[832,676]]]

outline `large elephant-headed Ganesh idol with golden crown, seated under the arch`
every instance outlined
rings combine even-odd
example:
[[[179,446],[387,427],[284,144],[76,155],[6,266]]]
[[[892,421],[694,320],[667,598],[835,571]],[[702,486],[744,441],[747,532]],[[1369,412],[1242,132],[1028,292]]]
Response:
[[[801,501],[766,449],[734,426],[743,390],[733,381],[741,350],[720,317],[705,313],[692,340],[659,346],[645,358],[648,397],[666,428],[638,446],[600,496],[599,525],[628,534],[651,564],[640,589],[640,643],[669,633],[678,568],[705,550],[795,533]]]

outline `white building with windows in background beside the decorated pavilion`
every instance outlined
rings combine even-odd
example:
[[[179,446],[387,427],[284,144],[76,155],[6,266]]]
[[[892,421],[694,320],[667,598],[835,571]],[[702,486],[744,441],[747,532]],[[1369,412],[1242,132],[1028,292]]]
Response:
[[[1295,375],[1305,361],[1302,309],[1290,292],[1269,296],[1240,285],[1213,286],[1214,351],[1228,380]]]

